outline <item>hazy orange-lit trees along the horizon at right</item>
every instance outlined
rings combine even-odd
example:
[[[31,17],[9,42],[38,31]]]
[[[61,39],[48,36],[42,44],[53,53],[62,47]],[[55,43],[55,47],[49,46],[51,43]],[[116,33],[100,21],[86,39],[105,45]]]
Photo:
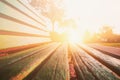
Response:
[[[113,29],[109,26],[102,27],[98,33],[90,34],[89,31],[85,32],[84,42],[120,42],[120,35],[115,34]]]

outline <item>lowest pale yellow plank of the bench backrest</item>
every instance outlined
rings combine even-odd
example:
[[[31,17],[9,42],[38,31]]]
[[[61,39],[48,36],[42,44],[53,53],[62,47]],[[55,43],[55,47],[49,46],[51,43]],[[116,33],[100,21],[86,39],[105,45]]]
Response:
[[[51,41],[43,37],[0,35],[0,49]]]

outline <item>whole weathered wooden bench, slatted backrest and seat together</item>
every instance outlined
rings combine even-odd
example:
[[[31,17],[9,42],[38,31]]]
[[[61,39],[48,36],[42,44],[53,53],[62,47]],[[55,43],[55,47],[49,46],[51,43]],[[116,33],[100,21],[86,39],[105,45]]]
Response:
[[[51,41],[46,22],[24,0],[0,0],[0,80],[70,80],[69,67],[77,80],[120,80],[120,59],[86,45],[28,47]]]

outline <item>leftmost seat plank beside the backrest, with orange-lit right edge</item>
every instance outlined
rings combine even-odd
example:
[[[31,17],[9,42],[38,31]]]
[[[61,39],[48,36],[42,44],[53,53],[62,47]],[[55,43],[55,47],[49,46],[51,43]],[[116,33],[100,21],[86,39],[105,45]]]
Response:
[[[2,58],[0,60],[0,79],[22,80],[47,59],[59,45],[44,45]]]

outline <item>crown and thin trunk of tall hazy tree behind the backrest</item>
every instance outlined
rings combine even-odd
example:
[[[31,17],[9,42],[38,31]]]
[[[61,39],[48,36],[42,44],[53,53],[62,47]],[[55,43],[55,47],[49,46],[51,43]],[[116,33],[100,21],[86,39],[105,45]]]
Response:
[[[52,31],[54,31],[55,21],[62,21],[64,16],[62,0],[31,0],[30,4],[36,9],[40,9],[41,13],[51,20]]]

